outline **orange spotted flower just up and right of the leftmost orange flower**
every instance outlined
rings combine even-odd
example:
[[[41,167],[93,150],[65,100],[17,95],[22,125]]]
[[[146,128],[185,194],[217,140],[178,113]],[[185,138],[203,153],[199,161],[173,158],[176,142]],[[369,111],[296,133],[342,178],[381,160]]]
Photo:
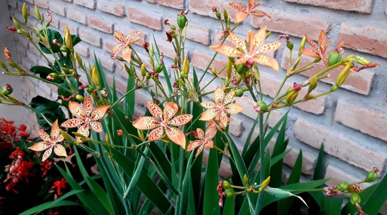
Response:
[[[83,107],[77,102],[69,101],[68,109],[76,117],[73,119],[68,119],[62,123],[62,127],[65,128],[75,128],[79,126],[77,133],[80,133],[84,137],[89,137],[90,126],[95,132],[102,132],[102,125],[98,122],[99,119],[103,118],[106,111],[109,109],[110,105],[101,105],[98,108],[93,109],[93,103],[89,96],[86,96],[83,101]],[[91,113],[91,116],[90,116]],[[80,141],[80,137],[76,137],[77,141]]]

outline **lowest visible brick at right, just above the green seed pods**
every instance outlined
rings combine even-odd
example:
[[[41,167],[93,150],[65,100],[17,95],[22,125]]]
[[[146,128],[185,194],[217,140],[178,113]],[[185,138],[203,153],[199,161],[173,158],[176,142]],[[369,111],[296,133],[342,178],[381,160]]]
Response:
[[[337,167],[334,167],[332,165],[327,166],[327,170],[325,172],[324,178],[331,178],[329,181],[327,181],[328,186],[336,186],[337,184],[341,183],[342,181],[346,181],[349,184],[356,183],[358,181],[364,180],[366,177],[366,174],[363,174],[364,177],[360,178],[357,176],[354,176],[352,174],[348,174],[347,172],[344,172],[342,169],[339,169]],[[365,189],[370,186],[370,183],[362,183],[361,188]]]

